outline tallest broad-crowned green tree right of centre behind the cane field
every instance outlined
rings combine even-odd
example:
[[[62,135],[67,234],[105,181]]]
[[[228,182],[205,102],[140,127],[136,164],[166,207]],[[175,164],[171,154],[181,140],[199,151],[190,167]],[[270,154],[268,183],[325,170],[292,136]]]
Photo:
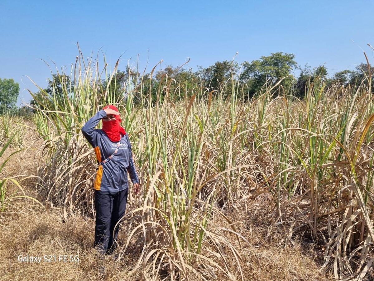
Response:
[[[288,91],[291,88],[295,78],[291,75],[291,70],[297,66],[294,61],[294,54],[283,54],[283,52],[271,53],[268,57],[261,57],[260,60],[254,60],[251,63],[243,63],[243,72],[240,79],[251,85],[248,89],[249,97],[253,96],[261,87],[270,82],[275,84],[280,79],[282,87]]]

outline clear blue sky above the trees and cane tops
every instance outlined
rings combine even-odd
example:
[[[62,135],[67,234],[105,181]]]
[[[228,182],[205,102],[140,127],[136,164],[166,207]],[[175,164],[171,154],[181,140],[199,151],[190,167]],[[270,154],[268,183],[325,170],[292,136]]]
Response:
[[[0,78],[13,78],[21,99],[46,87],[51,77],[42,61],[57,66],[74,62],[76,42],[83,55],[101,48],[119,69],[149,52],[148,71],[183,64],[207,67],[216,61],[252,61],[272,52],[295,54],[298,65],[322,64],[330,75],[374,64],[374,0],[268,1],[9,1],[0,0]]]

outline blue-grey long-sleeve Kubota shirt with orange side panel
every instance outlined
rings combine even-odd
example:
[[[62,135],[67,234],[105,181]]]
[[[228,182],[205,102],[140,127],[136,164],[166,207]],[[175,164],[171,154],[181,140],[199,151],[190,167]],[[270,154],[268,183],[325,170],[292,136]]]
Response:
[[[108,158],[117,148],[118,142],[112,142],[104,131],[95,129],[99,121],[107,116],[100,110],[82,127],[83,136],[93,146],[98,163]],[[138,183],[139,178],[132,159],[131,143],[126,133],[120,139],[117,153],[107,162],[99,165],[96,171],[94,188],[101,191],[122,191],[128,188],[127,172],[132,183]]]

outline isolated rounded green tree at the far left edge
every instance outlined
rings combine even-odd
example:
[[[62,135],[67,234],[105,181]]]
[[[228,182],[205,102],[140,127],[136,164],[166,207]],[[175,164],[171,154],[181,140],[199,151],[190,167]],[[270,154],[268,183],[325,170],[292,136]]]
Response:
[[[19,95],[19,84],[13,79],[0,78],[0,114],[15,112]]]

